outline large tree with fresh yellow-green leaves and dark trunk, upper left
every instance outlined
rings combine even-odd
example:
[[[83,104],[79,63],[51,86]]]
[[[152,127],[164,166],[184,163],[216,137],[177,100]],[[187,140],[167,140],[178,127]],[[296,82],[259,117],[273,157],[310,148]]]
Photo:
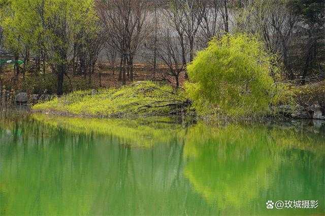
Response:
[[[98,36],[98,17],[93,0],[0,0],[6,48],[15,58],[43,57],[58,76],[57,93],[63,93],[63,75],[68,72],[80,35]],[[24,67],[25,69],[26,67]]]

